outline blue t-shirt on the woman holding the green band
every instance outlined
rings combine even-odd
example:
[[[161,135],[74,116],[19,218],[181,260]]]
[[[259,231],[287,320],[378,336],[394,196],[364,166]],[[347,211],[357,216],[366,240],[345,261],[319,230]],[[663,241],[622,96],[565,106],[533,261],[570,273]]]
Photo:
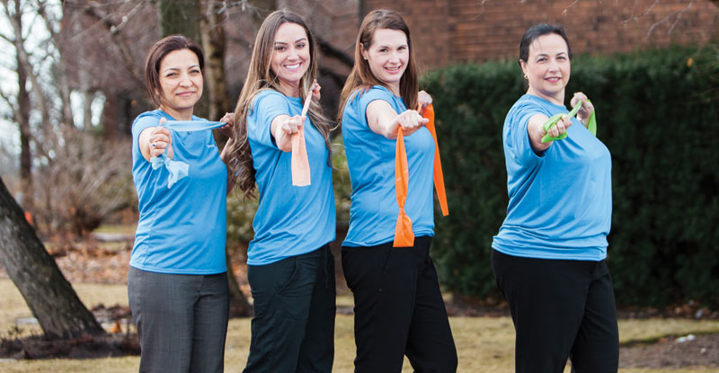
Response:
[[[557,113],[568,111],[525,94],[504,120],[510,203],[492,247],[514,256],[600,261],[607,257],[611,226],[611,155],[575,118],[568,138],[537,155],[529,144],[528,120]]]

